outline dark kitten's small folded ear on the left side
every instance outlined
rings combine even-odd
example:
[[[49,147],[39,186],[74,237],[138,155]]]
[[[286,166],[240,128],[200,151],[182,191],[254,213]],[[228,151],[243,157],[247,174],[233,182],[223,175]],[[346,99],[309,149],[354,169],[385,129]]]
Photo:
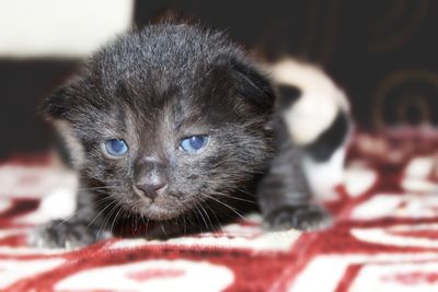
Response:
[[[66,87],[56,90],[39,106],[39,113],[46,119],[64,119],[69,109],[69,94]]]

